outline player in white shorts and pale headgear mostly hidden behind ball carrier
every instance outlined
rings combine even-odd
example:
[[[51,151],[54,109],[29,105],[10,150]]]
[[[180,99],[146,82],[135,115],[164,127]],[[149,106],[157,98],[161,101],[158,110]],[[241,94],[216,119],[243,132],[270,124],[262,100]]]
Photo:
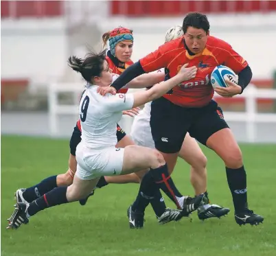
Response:
[[[183,36],[182,27],[176,25],[166,32],[165,42],[169,42],[170,40],[174,40],[181,36]],[[160,69],[157,72],[160,74],[163,73],[163,80],[168,79],[165,78],[165,75],[168,75],[165,72],[165,69]],[[148,102],[145,104],[143,110],[139,112],[139,115],[135,117],[130,131],[130,137],[135,144],[139,146],[155,148],[150,129],[150,110],[151,102]],[[209,198],[207,195],[207,158],[198,146],[196,139],[189,136],[189,132],[187,132],[185,136],[183,145],[179,152],[179,157],[191,165],[190,181],[194,187],[195,194],[199,195],[205,193],[205,202],[198,207],[198,218],[200,220],[215,217],[220,218],[229,213],[229,208],[209,204]]]

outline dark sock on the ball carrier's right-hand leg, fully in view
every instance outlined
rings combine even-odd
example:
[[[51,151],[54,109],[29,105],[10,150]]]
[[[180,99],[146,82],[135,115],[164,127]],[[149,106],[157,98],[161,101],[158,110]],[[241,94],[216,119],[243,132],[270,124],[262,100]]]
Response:
[[[246,172],[244,166],[238,169],[225,167],[227,181],[231,190],[235,212],[243,211],[247,208],[247,188]]]

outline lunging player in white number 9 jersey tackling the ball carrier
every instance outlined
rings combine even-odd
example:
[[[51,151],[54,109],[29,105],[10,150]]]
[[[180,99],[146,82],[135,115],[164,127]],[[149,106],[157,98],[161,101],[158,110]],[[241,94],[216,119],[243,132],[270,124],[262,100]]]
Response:
[[[21,224],[29,222],[31,216],[46,208],[84,198],[97,185],[100,176],[124,175],[143,169],[148,169],[149,172],[143,176],[139,194],[130,209],[130,226],[143,227],[144,210],[159,188],[179,205],[176,198],[179,191],[170,178],[168,167],[159,151],[134,145],[115,148],[117,121],[121,119],[123,110],[157,99],[183,80],[194,78],[197,68],[186,68],[187,65],[184,65],[174,78],[161,82],[148,91],[108,94],[103,97],[97,90],[111,84],[113,78],[105,53],[104,50],[100,54],[88,54],[84,60],[75,56],[69,58],[69,66],[80,72],[87,81],[79,106],[82,141],[76,151],[78,166],[73,184],[69,187],[56,187],[31,203],[17,203],[8,228],[18,229]],[[200,206],[204,197],[204,194],[200,194],[183,200],[182,210],[167,209],[164,216],[161,216],[161,223],[189,216]]]

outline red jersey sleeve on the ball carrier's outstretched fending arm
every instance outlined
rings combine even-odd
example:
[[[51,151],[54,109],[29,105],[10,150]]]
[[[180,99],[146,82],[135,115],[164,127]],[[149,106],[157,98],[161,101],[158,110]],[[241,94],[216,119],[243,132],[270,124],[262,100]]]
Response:
[[[162,69],[163,67],[168,67],[171,60],[170,52],[175,49],[173,46],[174,45],[170,43],[165,43],[156,51],[153,51],[144,58],[141,58],[139,62],[143,68],[143,71],[149,73],[157,69]]]

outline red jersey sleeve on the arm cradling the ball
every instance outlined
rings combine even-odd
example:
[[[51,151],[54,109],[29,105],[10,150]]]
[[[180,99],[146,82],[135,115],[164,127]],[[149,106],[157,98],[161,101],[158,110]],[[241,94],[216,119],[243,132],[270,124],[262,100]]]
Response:
[[[225,62],[224,65],[229,67],[230,69],[233,69],[235,73],[240,73],[242,69],[248,66],[248,63],[240,54],[235,52],[231,45],[227,44],[227,47],[225,47]]]

